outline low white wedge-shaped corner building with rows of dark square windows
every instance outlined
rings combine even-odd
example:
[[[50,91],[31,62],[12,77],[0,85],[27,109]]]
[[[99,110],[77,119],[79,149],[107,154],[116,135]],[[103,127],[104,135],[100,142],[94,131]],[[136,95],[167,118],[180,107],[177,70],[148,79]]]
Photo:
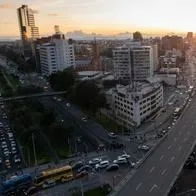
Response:
[[[111,92],[110,108],[117,123],[130,129],[158,114],[163,106],[163,87],[157,82],[137,82],[135,89],[117,85]]]

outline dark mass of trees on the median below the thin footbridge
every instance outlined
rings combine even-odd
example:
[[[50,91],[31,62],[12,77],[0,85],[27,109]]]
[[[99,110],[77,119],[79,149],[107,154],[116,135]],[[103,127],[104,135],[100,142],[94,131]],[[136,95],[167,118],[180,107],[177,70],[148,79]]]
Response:
[[[58,154],[56,149],[67,152],[68,144],[65,141],[73,130],[60,122],[53,110],[46,110],[39,101],[32,99],[10,102],[8,109],[10,122],[14,124],[16,136],[23,147],[30,145],[32,149],[31,140],[34,134],[38,155],[49,154],[55,161]]]

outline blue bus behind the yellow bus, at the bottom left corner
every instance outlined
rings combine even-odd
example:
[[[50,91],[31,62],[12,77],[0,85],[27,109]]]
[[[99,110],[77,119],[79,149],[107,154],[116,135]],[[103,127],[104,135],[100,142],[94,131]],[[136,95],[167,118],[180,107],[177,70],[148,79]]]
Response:
[[[20,190],[27,190],[33,185],[33,179],[29,174],[22,174],[20,176],[12,176],[10,179],[2,182],[0,195],[7,195],[12,192]]]

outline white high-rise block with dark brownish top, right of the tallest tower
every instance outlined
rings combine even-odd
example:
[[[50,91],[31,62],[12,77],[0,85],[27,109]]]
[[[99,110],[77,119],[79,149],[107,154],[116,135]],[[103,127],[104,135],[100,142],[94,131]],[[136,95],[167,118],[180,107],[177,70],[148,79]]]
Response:
[[[39,49],[41,73],[49,76],[75,66],[74,46],[63,34],[55,34],[50,42],[42,44]]]

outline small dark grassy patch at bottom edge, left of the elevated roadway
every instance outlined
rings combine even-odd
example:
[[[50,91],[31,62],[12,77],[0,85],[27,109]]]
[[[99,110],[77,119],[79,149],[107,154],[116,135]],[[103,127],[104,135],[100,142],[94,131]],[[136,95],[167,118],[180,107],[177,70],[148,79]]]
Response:
[[[77,193],[73,193],[72,196],[80,196],[81,193],[77,190]],[[111,192],[111,187],[109,185],[105,185],[104,187],[98,187],[95,189],[88,190],[84,193],[84,196],[107,196]]]

